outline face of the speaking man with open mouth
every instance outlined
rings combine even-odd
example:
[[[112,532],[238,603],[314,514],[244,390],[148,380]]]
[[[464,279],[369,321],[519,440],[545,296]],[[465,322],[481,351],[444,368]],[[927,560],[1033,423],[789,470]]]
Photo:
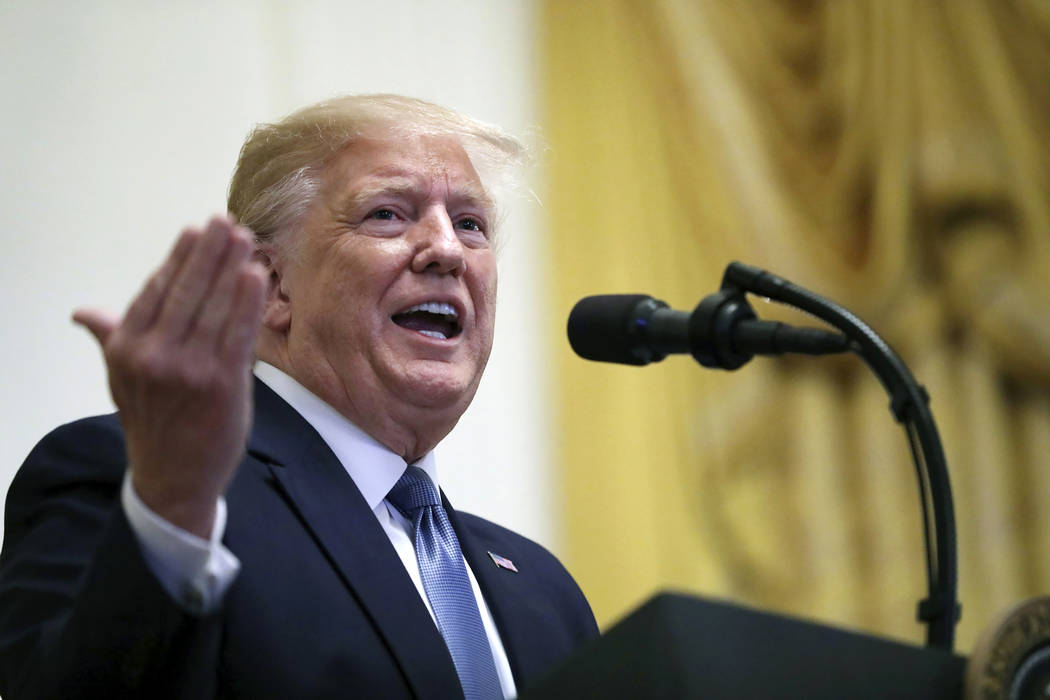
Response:
[[[456,140],[356,141],[285,256],[286,370],[362,427],[420,409],[455,424],[492,343],[492,215]]]

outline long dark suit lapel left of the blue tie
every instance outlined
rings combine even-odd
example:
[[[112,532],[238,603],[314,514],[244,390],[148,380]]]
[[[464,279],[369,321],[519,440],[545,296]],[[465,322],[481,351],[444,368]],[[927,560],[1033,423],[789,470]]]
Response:
[[[249,453],[269,465],[385,639],[415,696],[462,697],[444,640],[375,513],[321,437],[259,381]]]

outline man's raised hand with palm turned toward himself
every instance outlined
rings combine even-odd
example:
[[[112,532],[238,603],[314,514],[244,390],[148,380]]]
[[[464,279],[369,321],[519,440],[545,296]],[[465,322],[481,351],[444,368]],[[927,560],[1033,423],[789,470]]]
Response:
[[[207,537],[245,451],[267,276],[251,232],[225,216],[183,231],[123,319],[78,310],[102,346],[135,492]]]

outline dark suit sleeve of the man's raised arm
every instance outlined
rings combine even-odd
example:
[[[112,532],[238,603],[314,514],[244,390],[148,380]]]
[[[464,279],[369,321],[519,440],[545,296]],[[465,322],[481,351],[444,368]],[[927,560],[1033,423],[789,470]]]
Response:
[[[123,509],[114,416],[63,426],[7,495],[0,695],[209,698],[220,620],[187,613],[150,572]]]

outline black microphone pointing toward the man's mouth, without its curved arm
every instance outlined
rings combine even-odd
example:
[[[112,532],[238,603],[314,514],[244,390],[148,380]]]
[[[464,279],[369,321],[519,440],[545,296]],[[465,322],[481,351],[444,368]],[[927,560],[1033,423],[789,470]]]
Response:
[[[735,291],[706,297],[690,312],[645,294],[584,297],[569,314],[569,344],[598,362],[646,365],[688,353],[706,367],[736,369],[755,355],[830,355],[850,349],[842,334],[761,321]]]

